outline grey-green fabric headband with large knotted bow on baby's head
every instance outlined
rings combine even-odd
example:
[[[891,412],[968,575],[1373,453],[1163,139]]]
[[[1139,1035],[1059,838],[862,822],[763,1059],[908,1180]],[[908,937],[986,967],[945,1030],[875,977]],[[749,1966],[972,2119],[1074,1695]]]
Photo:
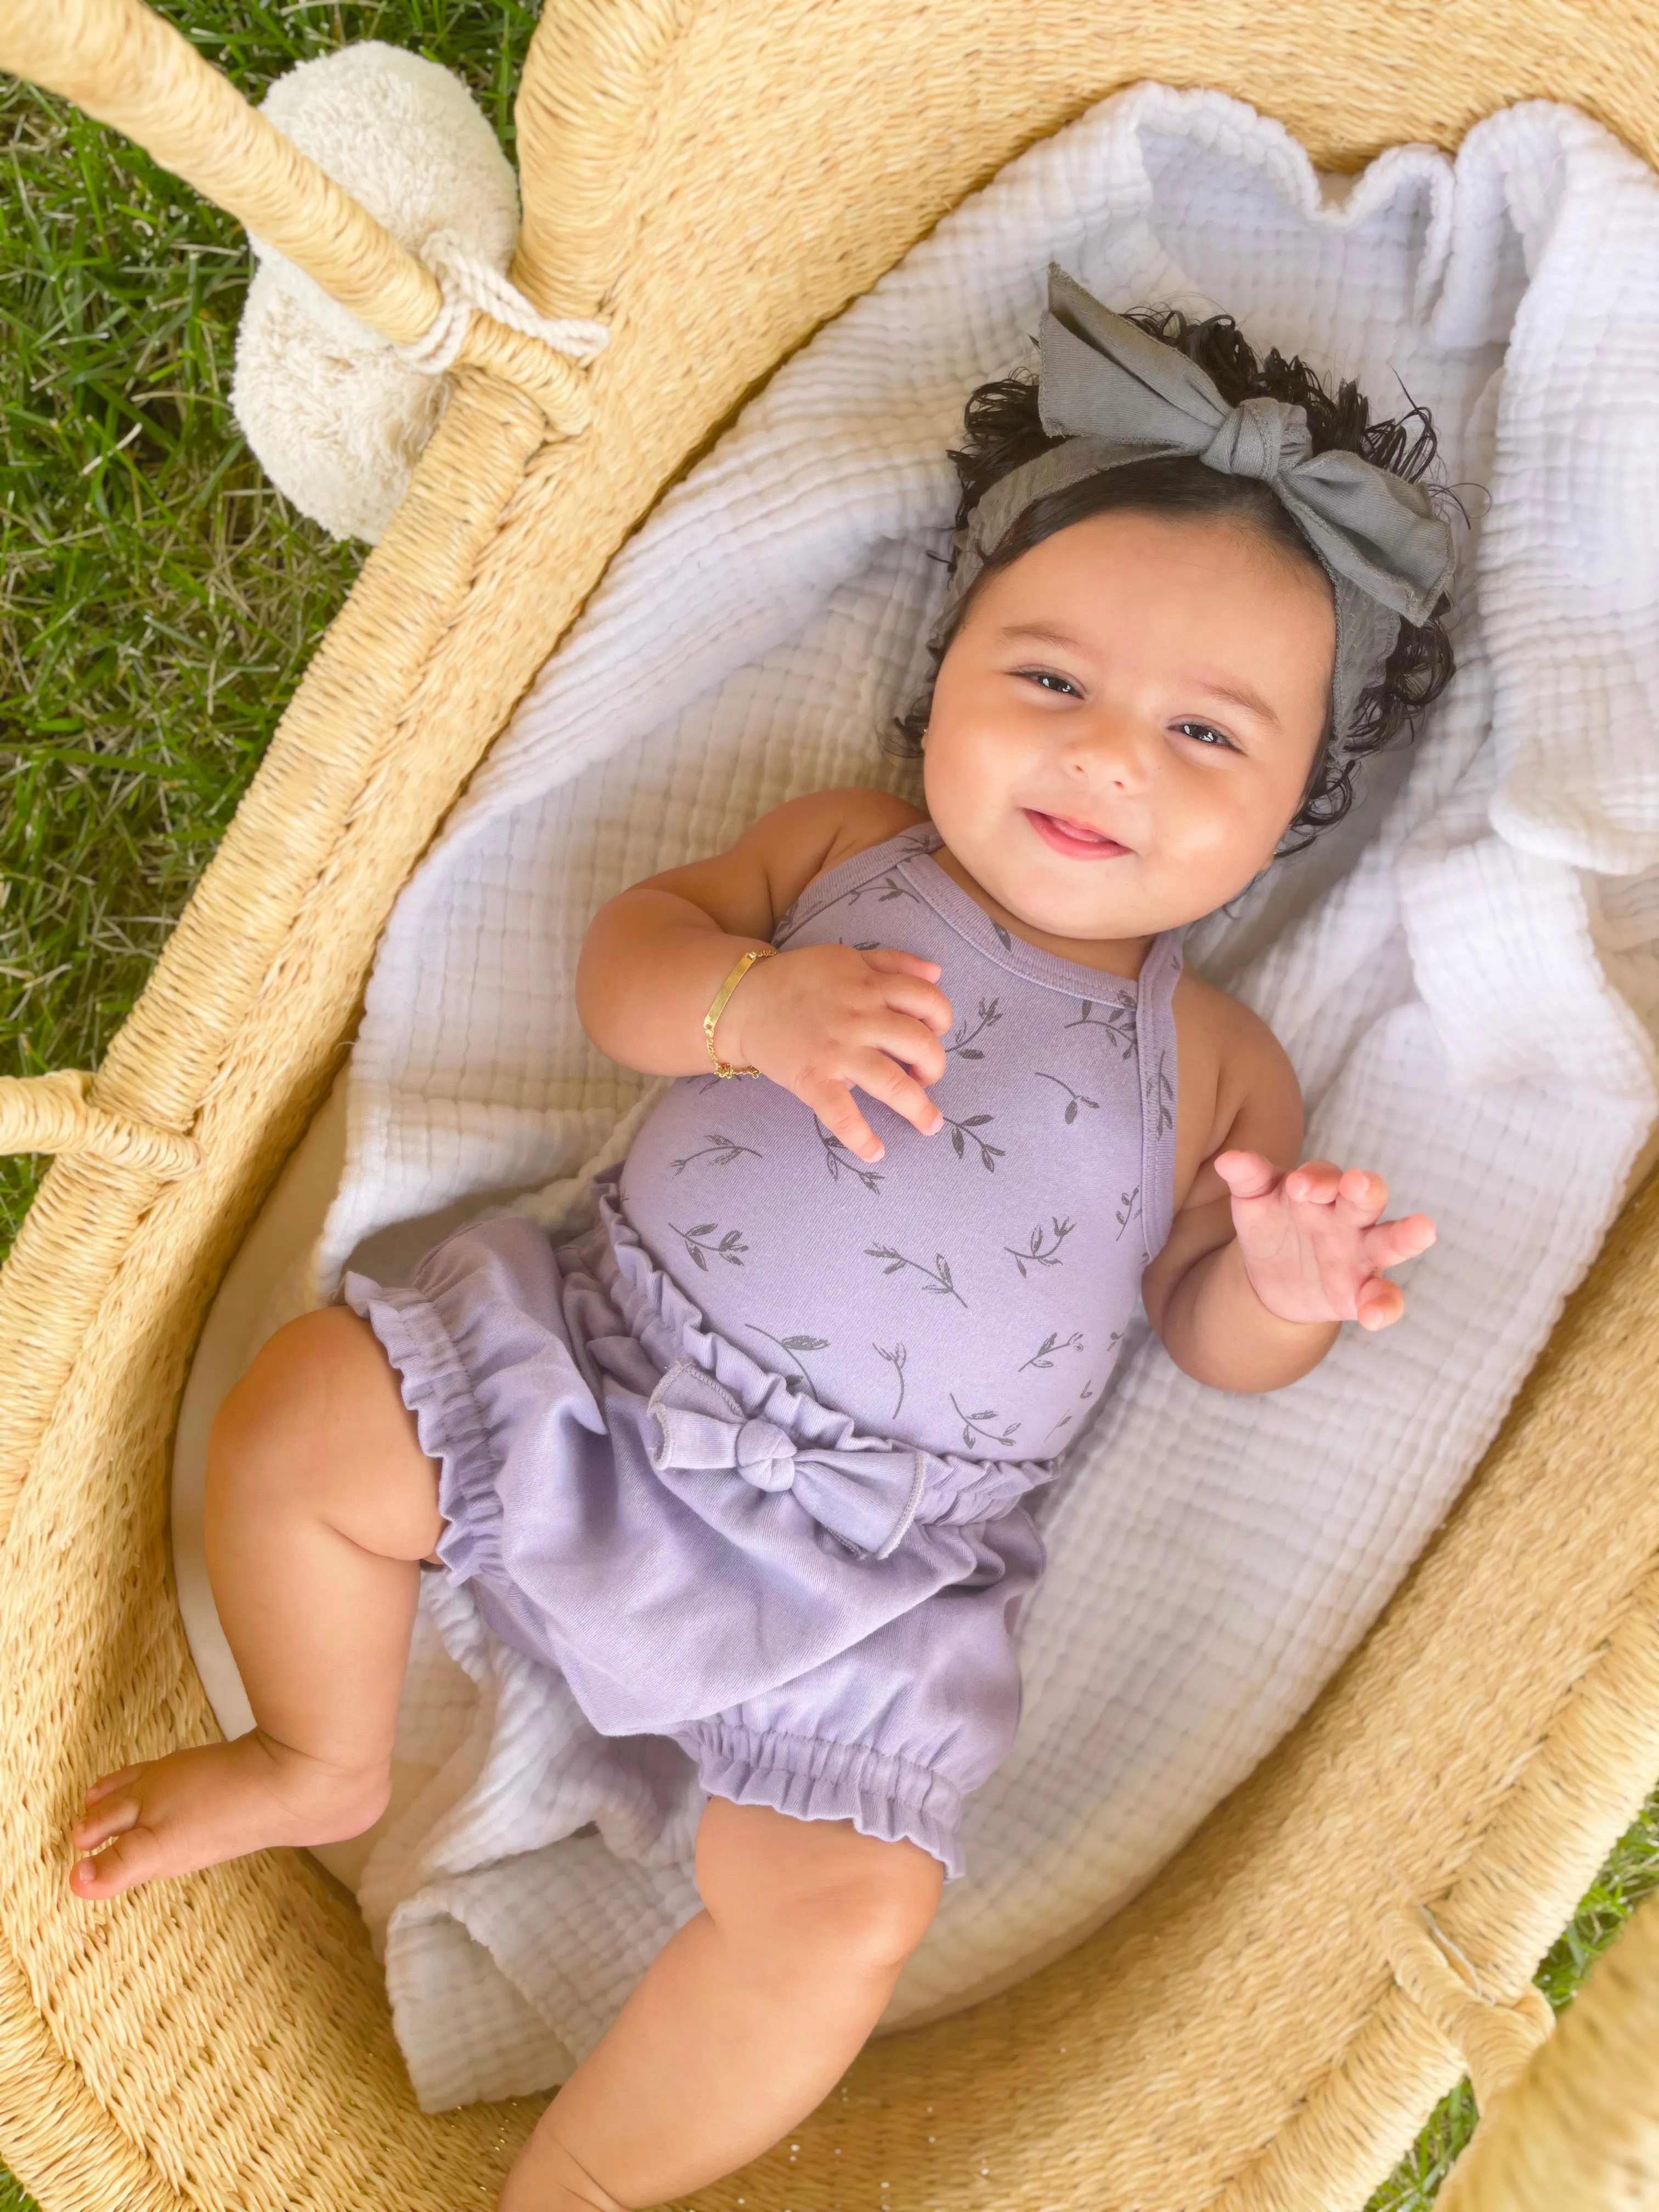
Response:
[[[1064,442],[995,482],[969,515],[936,644],[1035,500],[1133,460],[1192,453],[1221,476],[1261,478],[1332,580],[1332,726],[1345,732],[1360,695],[1380,681],[1400,622],[1427,622],[1451,582],[1451,529],[1425,489],[1358,453],[1314,453],[1307,414],[1287,400],[1228,407],[1194,361],[1102,307],[1055,265],[1037,345],[1042,427]]]

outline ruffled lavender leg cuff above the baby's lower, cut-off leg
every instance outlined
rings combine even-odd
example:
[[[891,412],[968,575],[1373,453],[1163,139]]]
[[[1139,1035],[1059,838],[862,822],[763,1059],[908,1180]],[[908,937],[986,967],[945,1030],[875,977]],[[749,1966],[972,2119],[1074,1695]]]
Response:
[[[852,1820],[860,1836],[920,1845],[945,1867],[947,1882],[967,1871],[958,1840],[962,1792],[931,1767],[867,1743],[785,1736],[726,1721],[699,1721],[677,1730],[675,1741],[697,1761],[708,1796],[770,1805],[792,1820]]]

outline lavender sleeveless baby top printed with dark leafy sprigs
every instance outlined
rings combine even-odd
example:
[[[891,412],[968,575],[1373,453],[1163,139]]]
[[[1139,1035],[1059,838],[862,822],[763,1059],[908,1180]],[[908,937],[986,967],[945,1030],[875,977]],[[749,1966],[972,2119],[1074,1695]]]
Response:
[[[907,830],[814,883],[779,949],[938,960],[956,1024],[936,1137],[863,1102],[874,1168],[776,1084],[692,1075],[635,1137],[622,1206],[761,1367],[860,1429],[971,1460],[1064,1451],[1170,1232],[1177,940],[1139,984],[1000,929]]]

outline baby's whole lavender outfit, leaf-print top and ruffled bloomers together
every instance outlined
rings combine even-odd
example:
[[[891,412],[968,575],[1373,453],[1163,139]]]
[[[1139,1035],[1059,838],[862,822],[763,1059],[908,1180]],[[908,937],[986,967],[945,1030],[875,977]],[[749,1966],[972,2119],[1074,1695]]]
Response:
[[[776,931],[940,962],[920,1137],[867,1168],[770,1082],[686,1077],[566,1243],[487,1221],[409,1285],[352,1274],[440,1462],[438,1555],[593,1723],[597,1801],[849,1818],[962,1871],[1020,1717],[1022,1498],[1110,1376],[1170,1228],[1179,942],[1137,982],[1002,931],[931,825]]]

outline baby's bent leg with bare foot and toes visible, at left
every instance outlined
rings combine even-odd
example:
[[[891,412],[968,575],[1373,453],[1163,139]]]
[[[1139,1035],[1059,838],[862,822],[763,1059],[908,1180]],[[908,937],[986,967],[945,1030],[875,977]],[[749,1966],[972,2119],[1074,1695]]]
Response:
[[[71,1887],[113,1898],[272,1843],[336,1843],[385,1809],[438,1469],[398,1376],[345,1307],[265,1345],[208,1440],[212,1593],[250,1734],[106,1774]]]

